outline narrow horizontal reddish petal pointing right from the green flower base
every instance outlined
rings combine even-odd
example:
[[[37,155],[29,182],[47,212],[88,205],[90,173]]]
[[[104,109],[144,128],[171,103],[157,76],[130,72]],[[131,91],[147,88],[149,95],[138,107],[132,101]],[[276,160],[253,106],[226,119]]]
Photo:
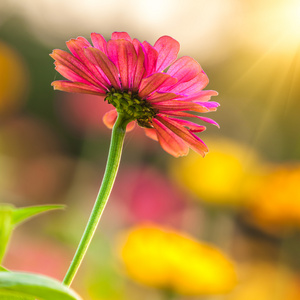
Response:
[[[153,103],[153,107],[159,111],[196,111],[196,112],[209,112],[210,109],[203,105],[194,102],[170,100],[165,102]]]

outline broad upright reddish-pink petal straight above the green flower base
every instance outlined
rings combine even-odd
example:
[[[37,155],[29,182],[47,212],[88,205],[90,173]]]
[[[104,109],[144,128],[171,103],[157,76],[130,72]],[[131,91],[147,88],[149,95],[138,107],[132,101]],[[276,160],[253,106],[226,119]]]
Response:
[[[137,64],[134,46],[126,40],[110,40],[107,43],[107,53],[119,70],[122,88],[131,89]]]

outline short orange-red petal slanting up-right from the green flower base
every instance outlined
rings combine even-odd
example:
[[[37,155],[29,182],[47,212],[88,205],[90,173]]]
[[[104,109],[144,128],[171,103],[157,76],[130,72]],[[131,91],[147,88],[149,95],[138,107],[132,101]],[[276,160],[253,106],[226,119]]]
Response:
[[[173,85],[177,82],[176,78],[165,73],[155,73],[141,81],[139,96],[141,98],[149,96],[158,88]]]

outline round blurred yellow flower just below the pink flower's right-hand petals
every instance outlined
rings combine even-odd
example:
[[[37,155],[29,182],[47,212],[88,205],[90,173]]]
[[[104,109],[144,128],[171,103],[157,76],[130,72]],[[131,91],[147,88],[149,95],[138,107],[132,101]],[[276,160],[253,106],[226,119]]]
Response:
[[[196,153],[174,161],[171,176],[203,201],[215,204],[241,204],[258,172],[257,155],[236,142],[219,139],[209,142],[203,159]]]

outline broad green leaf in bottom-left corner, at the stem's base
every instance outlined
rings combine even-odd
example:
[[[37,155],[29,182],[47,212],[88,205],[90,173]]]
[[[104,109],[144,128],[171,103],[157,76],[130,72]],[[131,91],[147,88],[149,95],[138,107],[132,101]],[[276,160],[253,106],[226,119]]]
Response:
[[[72,289],[53,278],[23,272],[0,272],[1,300],[2,295],[9,300],[81,300]]]

